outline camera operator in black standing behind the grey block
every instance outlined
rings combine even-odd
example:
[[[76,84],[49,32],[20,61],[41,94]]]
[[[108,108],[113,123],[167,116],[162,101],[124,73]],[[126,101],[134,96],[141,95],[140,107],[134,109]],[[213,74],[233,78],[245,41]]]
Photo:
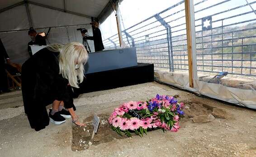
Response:
[[[90,24],[92,25],[93,36],[85,36],[85,33],[81,34],[85,39],[94,41],[95,52],[102,51],[104,49],[104,45],[102,43],[99,23],[94,21]]]

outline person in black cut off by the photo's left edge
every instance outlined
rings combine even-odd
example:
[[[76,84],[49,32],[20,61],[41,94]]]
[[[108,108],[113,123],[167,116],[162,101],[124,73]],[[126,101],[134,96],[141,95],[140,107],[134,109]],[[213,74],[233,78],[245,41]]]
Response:
[[[5,60],[10,64],[10,58],[5,50],[5,47],[0,39],[0,92],[9,92],[7,74],[5,72]]]

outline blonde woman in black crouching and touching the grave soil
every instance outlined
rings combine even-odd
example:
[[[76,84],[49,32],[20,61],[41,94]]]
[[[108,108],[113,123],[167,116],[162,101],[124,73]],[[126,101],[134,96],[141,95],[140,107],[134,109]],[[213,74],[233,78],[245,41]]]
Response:
[[[38,131],[49,121],[58,125],[70,117],[76,125],[85,126],[75,113],[72,88],[79,88],[83,81],[87,59],[84,45],[71,42],[48,45],[23,64],[22,95],[31,128]],[[47,114],[46,106],[51,103]]]

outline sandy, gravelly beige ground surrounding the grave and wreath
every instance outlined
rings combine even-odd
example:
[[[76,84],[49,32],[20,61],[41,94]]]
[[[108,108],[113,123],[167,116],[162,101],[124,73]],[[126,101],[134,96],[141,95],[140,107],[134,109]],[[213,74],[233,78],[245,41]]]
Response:
[[[81,119],[97,113],[108,115],[119,104],[134,100],[145,100],[156,94],[179,95],[179,101],[187,104],[187,110],[194,113],[210,113],[209,108],[198,111],[191,105],[206,104],[225,109],[232,118],[215,118],[207,123],[194,123],[185,117],[181,129],[174,132],[154,130],[143,136],[117,139],[91,145],[83,151],[72,151],[72,123],[55,126],[35,132],[29,127],[24,113],[0,120],[0,156],[1,157],[254,157],[256,156],[256,112],[230,106],[213,99],[202,98],[182,90],[175,90],[158,83],[133,85],[113,90],[81,94],[75,100],[77,114]],[[1,95],[5,96],[5,95]],[[10,99],[11,96],[6,97]],[[17,97],[17,95],[15,95]],[[15,102],[15,97],[12,98]],[[1,99],[0,102],[5,101]],[[20,101],[19,97],[17,101]],[[11,102],[11,100],[9,101]],[[9,104],[8,102],[8,104]],[[0,103],[3,105],[5,103]],[[9,112],[1,107],[0,112]],[[21,108],[21,107],[20,107]],[[14,108],[19,109],[19,108]],[[11,114],[11,113],[10,113]],[[187,114],[188,116],[188,114]],[[193,115],[192,115],[193,116]],[[196,116],[196,115],[194,115]],[[104,130],[99,130],[104,131]],[[97,135],[96,135],[97,136]]]

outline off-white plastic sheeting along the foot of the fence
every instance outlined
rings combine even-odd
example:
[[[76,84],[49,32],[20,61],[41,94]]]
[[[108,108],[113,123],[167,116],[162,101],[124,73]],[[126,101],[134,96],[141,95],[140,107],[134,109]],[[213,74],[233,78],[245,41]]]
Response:
[[[255,90],[243,90],[198,80],[194,81],[194,88],[190,88],[188,75],[163,71],[155,71],[155,79],[181,89],[208,96],[210,98],[256,109]]]

